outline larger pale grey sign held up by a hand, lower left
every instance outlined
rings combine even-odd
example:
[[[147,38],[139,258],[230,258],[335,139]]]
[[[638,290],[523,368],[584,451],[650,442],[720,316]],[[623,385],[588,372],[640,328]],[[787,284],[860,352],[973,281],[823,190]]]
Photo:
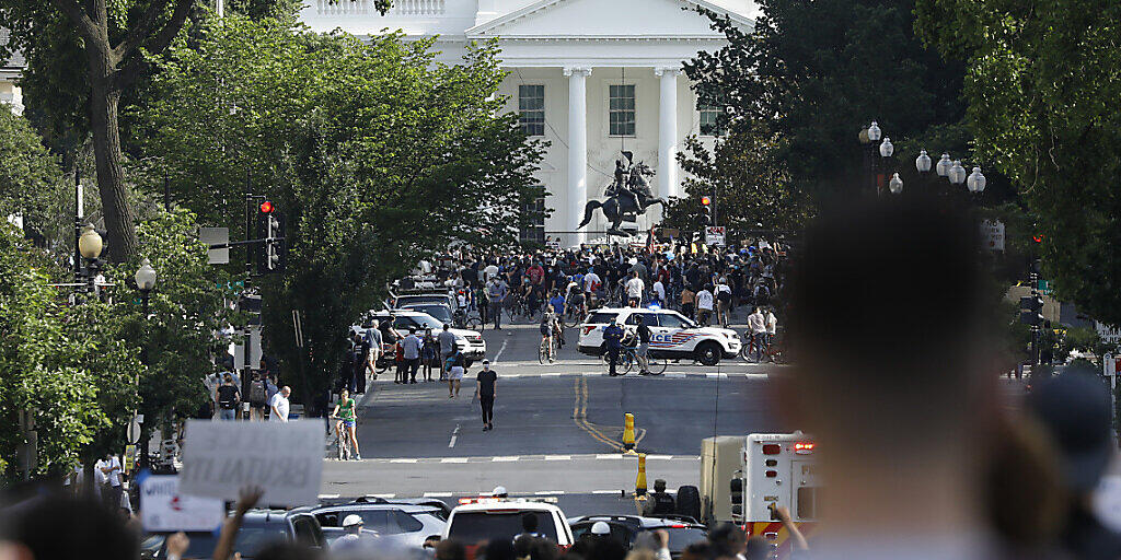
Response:
[[[187,422],[180,491],[237,501],[260,486],[267,505],[317,503],[323,476],[323,422]]]

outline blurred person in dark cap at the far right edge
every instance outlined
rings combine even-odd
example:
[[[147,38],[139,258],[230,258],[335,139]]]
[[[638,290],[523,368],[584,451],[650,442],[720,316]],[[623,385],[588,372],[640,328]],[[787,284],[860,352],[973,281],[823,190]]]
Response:
[[[1109,390],[1093,370],[1071,366],[1032,390],[1028,410],[1058,451],[1071,496],[1064,548],[1072,558],[1121,558],[1121,533],[1103,525],[1093,511],[1094,489],[1114,455]]]

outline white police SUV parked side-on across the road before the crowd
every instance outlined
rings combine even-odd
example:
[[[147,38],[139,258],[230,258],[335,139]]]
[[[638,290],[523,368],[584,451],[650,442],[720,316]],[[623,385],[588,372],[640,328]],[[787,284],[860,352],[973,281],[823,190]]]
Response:
[[[740,336],[734,330],[702,327],[671,309],[639,307],[601,308],[589,314],[580,326],[580,352],[600,356],[606,352],[603,328],[614,318],[633,333],[639,320],[650,327],[650,354],[671,360],[696,360],[704,365],[716,365],[722,357],[740,353]]]

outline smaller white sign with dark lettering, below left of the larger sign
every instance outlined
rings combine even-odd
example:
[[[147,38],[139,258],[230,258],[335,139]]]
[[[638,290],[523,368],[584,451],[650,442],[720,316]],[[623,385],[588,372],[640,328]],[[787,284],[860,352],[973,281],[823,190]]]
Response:
[[[213,531],[225,519],[221,500],[179,494],[178,476],[148,476],[140,483],[140,522],[149,533]]]

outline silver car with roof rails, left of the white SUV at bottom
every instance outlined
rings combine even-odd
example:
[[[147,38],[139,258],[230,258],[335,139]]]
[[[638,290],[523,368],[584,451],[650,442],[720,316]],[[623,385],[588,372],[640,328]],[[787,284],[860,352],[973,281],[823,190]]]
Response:
[[[362,529],[377,533],[380,542],[419,549],[425,539],[441,535],[447,524],[444,512],[430,505],[385,501],[354,501],[308,510],[324,528],[341,528],[348,515],[362,517]]]

